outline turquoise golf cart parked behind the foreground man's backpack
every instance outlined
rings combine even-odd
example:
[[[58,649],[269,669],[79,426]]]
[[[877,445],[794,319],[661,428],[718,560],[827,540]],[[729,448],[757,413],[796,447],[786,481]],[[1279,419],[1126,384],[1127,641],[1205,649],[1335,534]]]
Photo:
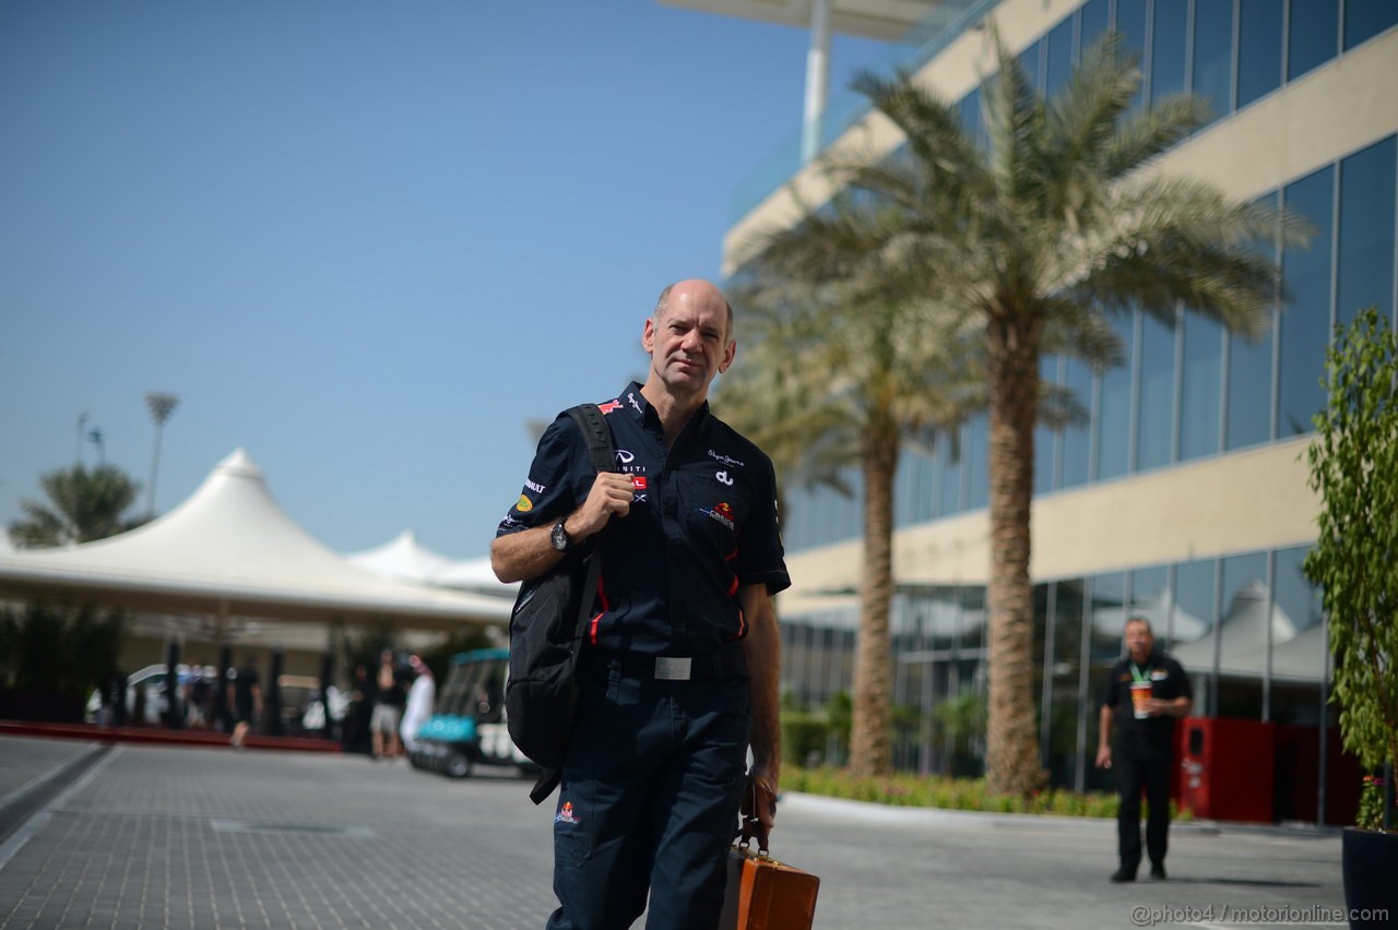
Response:
[[[422,725],[408,761],[414,768],[466,778],[477,765],[535,771],[505,729],[507,649],[474,649],[452,656],[436,714]]]

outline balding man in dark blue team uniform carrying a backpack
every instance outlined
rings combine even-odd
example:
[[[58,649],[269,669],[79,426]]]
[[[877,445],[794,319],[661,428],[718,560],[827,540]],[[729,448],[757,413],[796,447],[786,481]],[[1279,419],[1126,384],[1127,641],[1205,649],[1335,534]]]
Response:
[[[682,281],[640,342],[646,383],[601,405],[618,471],[596,473],[559,416],[491,546],[506,582],[577,547],[603,554],[554,817],[554,930],[628,927],[647,908],[650,926],[710,930],[745,785],[761,839],[776,815],[769,598],[790,580],[772,462],[709,412],[737,349],[733,309],[712,283]]]

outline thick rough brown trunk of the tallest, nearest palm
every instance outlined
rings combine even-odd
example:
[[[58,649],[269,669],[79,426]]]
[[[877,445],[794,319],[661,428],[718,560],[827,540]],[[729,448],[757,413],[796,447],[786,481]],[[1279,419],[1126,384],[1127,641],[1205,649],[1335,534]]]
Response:
[[[1028,795],[1043,783],[1033,693],[1029,507],[1035,482],[1039,331],[993,317],[990,355],[990,701],[987,789]]]

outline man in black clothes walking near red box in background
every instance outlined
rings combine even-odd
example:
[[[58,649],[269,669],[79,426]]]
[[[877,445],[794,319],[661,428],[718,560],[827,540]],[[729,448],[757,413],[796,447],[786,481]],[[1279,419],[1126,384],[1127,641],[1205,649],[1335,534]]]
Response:
[[[1117,843],[1121,867],[1111,881],[1135,881],[1141,866],[1141,789],[1151,811],[1145,825],[1145,846],[1151,856],[1151,877],[1165,878],[1165,850],[1170,831],[1170,768],[1174,765],[1174,721],[1188,716],[1190,680],[1184,667],[1155,648],[1151,623],[1131,617],[1125,627],[1127,658],[1111,666],[1102,695],[1097,768],[1116,768]],[[1117,746],[1111,750],[1111,723]]]

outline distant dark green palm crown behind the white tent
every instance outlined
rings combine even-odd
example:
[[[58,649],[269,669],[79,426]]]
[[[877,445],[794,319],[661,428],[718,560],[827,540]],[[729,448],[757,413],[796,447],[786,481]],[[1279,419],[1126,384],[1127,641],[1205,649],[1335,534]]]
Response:
[[[39,479],[50,504],[21,500],[25,517],[10,524],[20,549],[91,542],[140,526],[123,514],[136,503],[140,485],[115,465],[60,468]]]

